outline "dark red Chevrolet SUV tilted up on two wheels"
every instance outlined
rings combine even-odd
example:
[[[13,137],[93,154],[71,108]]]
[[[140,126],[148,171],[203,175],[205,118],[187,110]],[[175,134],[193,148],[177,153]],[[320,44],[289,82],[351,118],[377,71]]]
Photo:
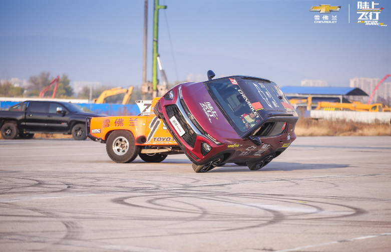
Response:
[[[224,163],[258,170],[296,139],[296,111],[278,86],[266,79],[229,76],[178,84],[157,103],[195,172]]]

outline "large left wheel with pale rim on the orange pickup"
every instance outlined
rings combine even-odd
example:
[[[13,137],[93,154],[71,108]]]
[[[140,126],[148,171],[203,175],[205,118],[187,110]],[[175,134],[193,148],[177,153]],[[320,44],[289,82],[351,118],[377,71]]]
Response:
[[[115,130],[106,141],[106,151],[111,160],[116,163],[130,163],[140,152],[140,146],[135,145],[132,132]]]

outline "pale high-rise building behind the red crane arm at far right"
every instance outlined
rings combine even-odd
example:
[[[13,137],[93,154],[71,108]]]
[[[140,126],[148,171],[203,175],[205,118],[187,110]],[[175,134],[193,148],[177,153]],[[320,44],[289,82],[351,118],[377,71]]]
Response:
[[[376,85],[380,82],[381,79],[377,78],[353,78],[350,79],[350,87],[351,88],[360,88],[365,93],[368,94],[367,97],[363,99],[363,102],[367,102],[369,100],[370,95],[373,92],[373,89],[376,87]],[[378,97],[381,97],[385,100],[391,98],[391,82],[383,82],[380,84],[380,86],[377,88],[376,92],[374,93],[374,96],[372,98],[371,103],[380,102]]]

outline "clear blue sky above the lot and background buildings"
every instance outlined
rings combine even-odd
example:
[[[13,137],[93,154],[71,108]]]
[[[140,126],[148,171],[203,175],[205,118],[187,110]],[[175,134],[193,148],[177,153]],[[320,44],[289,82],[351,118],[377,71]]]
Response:
[[[159,54],[170,82],[201,81],[208,70],[279,86],[382,78],[391,73],[391,2],[374,2],[384,8],[379,21],[387,27],[356,24],[357,1],[160,0],[168,8],[160,11]],[[327,15],[337,15],[336,24],[314,24],[314,15],[324,14],[309,9],[320,4],[341,6]],[[143,0],[1,0],[0,79],[50,71],[72,81],[141,85],[143,15]],[[148,18],[151,80],[152,0]]]

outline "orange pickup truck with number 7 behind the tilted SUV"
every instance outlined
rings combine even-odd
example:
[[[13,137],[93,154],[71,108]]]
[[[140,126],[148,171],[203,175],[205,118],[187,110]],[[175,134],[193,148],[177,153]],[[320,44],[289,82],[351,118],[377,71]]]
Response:
[[[132,162],[137,155],[145,162],[158,163],[167,155],[182,154],[163,121],[153,112],[159,99],[136,101],[141,111],[138,116],[87,118],[87,136],[106,143],[107,154],[117,163]]]

